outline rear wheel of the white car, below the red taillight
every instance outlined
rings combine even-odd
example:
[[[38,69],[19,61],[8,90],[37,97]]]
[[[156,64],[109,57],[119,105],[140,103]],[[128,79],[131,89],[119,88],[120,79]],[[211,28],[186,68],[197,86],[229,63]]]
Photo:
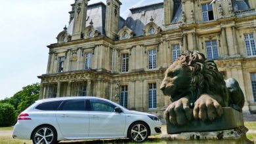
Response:
[[[39,126],[33,130],[32,134],[33,144],[36,143],[46,143],[55,144],[57,143],[57,132],[53,126]]]

